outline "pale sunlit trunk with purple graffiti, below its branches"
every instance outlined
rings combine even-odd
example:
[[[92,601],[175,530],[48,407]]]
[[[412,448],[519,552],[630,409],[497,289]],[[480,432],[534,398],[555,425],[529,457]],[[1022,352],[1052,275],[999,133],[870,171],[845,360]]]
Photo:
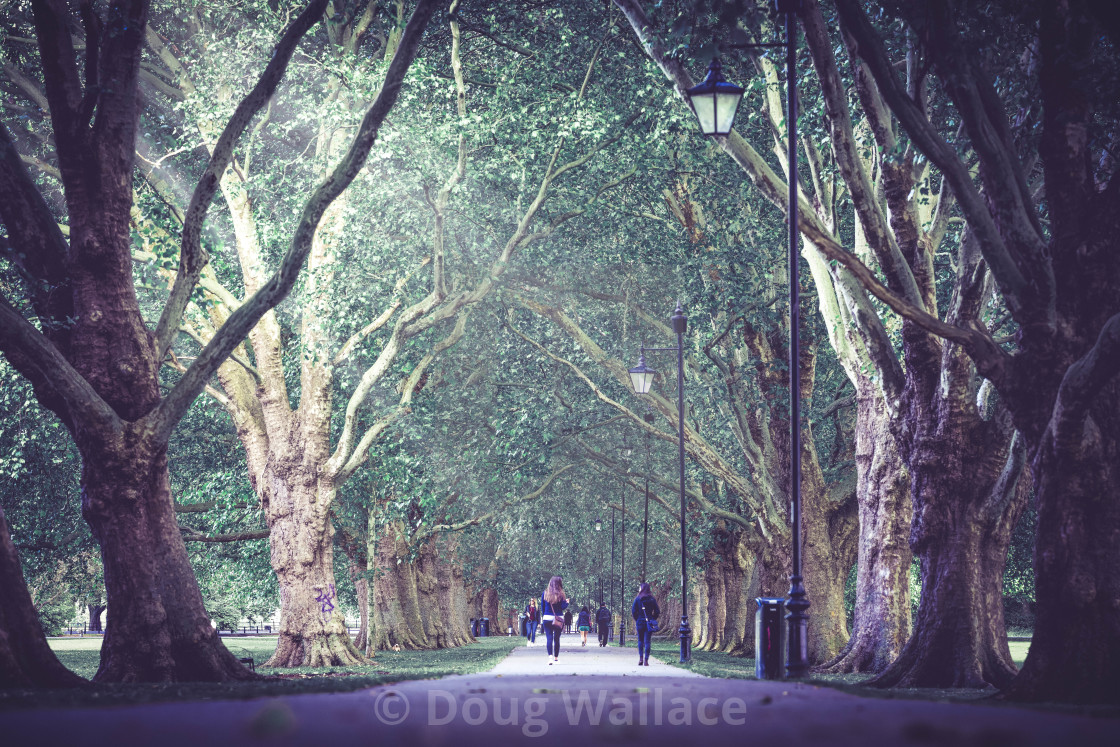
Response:
[[[269,476],[269,543],[280,581],[280,637],[265,666],[365,663],[351,642],[335,591],[334,526],[321,489],[292,470]]]

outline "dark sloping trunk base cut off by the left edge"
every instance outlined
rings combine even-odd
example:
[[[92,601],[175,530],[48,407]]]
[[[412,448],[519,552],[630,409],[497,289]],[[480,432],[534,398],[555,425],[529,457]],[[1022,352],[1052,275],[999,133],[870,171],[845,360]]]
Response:
[[[0,688],[73,688],[84,682],[47,644],[0,506]]]

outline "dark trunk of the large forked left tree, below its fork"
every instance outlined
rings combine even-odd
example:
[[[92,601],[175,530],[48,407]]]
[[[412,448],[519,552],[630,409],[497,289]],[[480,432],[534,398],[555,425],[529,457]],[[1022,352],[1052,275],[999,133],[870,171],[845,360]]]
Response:
[[[82,513],[101,544],[110,603],[94,681],[254,678],[222,644],[203,606],[175,519],[166,449],[122,440],[78,440]]]

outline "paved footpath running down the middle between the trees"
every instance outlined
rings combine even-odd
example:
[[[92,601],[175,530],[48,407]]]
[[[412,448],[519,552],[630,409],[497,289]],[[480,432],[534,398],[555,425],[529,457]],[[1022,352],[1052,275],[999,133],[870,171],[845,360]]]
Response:
[[[571,641],[577,641],[572,647]],[[489,672],[351,693],[0,712],[6,745],[813,745],[1034,747],[1120,744],[1120,719],[860,698],[795,682],[718,680],[635,648],[564,636],[560,662],[515,650]]]

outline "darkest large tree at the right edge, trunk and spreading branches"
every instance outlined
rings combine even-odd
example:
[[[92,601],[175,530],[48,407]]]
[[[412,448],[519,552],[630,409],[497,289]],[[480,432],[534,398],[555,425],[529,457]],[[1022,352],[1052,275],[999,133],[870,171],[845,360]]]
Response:
[[[923,64],[932,64],[972,144],[976,159],[965,162],[899,85],[862,6],[837,0],[837,8],[885,103],[944,175],[1016,326],[1015,346],[1007,351],[974,318],[949,319],[953,324],[939,328],[876,291],[924,328],[967,347],[1026,445],[1038,515],[1047,517],[1035,547],[1039,619],[1006,697],[1114,702],[1120,512],[1104,496],[1114,494],[1120,452],[1120,178],[1108,147],[1090,136],[1102,125],[1114,128],[1111,99],[1102,99],[1092,74],[1111,35],[1085,0],[1008,13],[1008,22],[1037,38],[1037,54],[1021,73],[1028,85],[1037,84],[1042,101],[1040,109],[1009,122],[996,76],[983,69],[987,58],[962,31],[970,9],[941,0],[903,9],[923,40]],[[1021,152],[1016,131],[1037,128],[1039,118],[1045,212],[1028,181],[1033,153]],[[927,521],[915,508],[918,539],[949,520]],[[928,572],[935,572],[933,564]]]

